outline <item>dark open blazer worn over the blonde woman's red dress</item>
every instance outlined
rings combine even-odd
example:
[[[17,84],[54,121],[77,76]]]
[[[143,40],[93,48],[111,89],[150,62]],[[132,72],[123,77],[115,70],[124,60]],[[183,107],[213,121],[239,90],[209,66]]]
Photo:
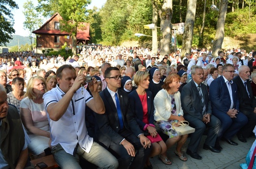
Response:
[[[148,121],[149,124],[154,124],[154,104],[152,93],[147,91],[147,105],[148,105]],[[135,112],[135,118],[141,130],[144,130],[146,123],[143,120],[143,107],[139,98],[139,95],[136,90],[132,91],[128,95],[130,99],[130,107],[133,112]]]

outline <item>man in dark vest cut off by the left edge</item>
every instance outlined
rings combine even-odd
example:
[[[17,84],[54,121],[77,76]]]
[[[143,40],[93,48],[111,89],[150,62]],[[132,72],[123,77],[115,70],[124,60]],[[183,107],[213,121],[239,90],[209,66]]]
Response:
[[[16,107],[8,105],[0,85],[0,169],[24,169],[29,156],[28,144]]]

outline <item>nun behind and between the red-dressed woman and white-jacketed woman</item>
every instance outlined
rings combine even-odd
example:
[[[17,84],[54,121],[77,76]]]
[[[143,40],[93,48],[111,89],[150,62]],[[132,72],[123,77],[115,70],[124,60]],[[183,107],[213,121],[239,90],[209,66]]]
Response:
[[[153,98],[157,95],[157,93],[162,89],[163,82],[161,81],[161,73],[160,70],[156,67],[153,67],[149,70],[150,74],[150,83],[148,91],[151,91],[153,94]]]

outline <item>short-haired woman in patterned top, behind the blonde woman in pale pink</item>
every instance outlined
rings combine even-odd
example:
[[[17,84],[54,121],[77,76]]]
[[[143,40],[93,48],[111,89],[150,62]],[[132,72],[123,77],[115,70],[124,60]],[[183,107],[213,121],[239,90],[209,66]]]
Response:
[[[18,112],[20,113],[21,100],[24,98],[25,95],[25,92],[23,91],[25,87],[24,78],[15,77],[12,80],[11,87],[13,91],[7,94],[7,101],[8,103],[15,105],[18,109]]]

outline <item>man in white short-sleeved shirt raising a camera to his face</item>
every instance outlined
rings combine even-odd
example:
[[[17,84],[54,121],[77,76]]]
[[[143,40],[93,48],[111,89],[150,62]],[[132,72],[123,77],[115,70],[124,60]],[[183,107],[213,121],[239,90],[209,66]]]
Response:
[[[44,107],[50,118],[52,153],[61,169],[81,169],[79,157],[101,169],[116,169],[117,159],[88,135],[85,124],[85,104],[94,112],[104,113],[105,107],[97,92],[95,77],[88,87],[93,97],[81,85],[86,80],[76,76],[71,65],[61,66],[57,72],[58,85],[44,94]],[[107,157],[107,158],[106,158]]]

